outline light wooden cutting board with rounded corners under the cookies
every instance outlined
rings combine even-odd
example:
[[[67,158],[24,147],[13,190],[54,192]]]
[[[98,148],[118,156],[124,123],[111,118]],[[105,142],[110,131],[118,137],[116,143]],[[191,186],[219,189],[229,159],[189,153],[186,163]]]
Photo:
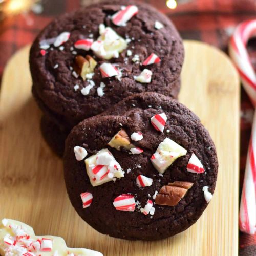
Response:
[[[39,131],[41,112],[31,95],[29,46],[8,62],[0,95],[0,219],[63,237],[70,247],[104,255],[237,255],[239,190],[239,78],[221,51],[185,41],[180,101],[209,130],[219,159],[214,197],[199,221],[175,237],[131,242],[98,233],[76,214],[66,194],[62,162]]]

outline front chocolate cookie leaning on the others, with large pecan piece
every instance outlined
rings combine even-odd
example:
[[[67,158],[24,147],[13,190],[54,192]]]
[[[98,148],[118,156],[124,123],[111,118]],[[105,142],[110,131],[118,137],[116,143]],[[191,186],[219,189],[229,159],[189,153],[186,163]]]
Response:
[[[99,232],[163,239],[194,224],[206,208],[216,185],[216,149],[178,101],[153,94],[128,103],[133,110],[125,115],[91,117],[71,131],[66,187],[78,214]]]

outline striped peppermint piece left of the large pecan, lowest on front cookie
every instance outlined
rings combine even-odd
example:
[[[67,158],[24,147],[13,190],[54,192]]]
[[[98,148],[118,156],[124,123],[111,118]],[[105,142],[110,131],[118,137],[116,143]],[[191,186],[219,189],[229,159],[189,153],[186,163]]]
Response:
[[[113,205],[116,210],[134,211],[136,203],[133,195],[122,194],[115,198]]]

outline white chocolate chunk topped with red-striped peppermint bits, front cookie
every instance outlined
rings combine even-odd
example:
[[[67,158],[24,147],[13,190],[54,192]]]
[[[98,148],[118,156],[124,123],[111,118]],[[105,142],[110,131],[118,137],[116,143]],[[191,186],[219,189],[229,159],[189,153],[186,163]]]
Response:
[[[100,150],[97,154],[88,157],[85,163],[87,174],[93,186],[113,181],[113,177],[124,177],[120,164],[107,149]]]

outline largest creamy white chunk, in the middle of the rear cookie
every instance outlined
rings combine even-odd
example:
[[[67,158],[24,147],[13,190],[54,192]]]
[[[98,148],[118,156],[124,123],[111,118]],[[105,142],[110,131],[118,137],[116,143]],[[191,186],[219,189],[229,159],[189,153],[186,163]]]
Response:
[[[100,24],[99,34],[97,41],[91,45],[91,50],[97,57],[103,59],[118,58],[119,53],[126,49],[126,41],[112,28]]]

